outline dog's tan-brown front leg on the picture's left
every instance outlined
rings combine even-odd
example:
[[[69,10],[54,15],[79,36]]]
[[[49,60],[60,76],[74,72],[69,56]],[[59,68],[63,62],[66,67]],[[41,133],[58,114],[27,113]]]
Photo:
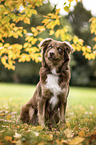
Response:
[[[41,126],[45,126],[45,102],[40,100],[38,103],[38,117],[39,117],[39,124]]]

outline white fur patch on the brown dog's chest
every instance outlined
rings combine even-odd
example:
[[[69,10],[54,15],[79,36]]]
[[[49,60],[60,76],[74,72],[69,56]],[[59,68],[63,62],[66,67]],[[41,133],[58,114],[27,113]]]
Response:
[[[45,87],[53,93],[53,96],[51,97],[49,101],[49,103],[52,104],[52,109],[54,109],[54,107],[57,105],[59,101],[59,98],[57,97],[57,95],[59,95],[60,92],[62,91],[61,87],[58,84],[58,79],[59,77],[53,74],[48,74],[47,79],[46,79]]]

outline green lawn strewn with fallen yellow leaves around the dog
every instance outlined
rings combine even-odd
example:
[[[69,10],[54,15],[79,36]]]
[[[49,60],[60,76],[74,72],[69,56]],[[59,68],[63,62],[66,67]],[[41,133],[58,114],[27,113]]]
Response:
[[[0,83],[0,145],[96,145],[96,88],[71,87],[66,124],[56,128],[17,124],[35,86]]]

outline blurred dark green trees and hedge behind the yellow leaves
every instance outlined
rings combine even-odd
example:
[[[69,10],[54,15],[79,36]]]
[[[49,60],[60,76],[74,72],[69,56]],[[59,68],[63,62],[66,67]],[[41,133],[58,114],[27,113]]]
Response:
[[[47,1],[43,6],[36,8],[38,15],[32,15],[31,23],[25,24],[19,22],[18,26],[23,26],[30,32],[30,28],[33,26],[38,26],[42,22],[42,15],[46,15],[49,12],[54,11],[54,7]],[[83,39],[85,45],[94,45],[92,42],[93,34],[90,33],[89,20],[92,17],[91,11],[86,10],[83,3],[78,2],[74,9],[68,14],[61,18],[61,25],[67,25],[71,27],[71,34],[77,35],[79,38]],[[41,35],[43,38],[50,37],[47,31],[44,31]],[[52,36],[56,39],[55,36]],[[6,38],[6,42],[10,44],[24,43],[24,37],[15,39],[13,37]],[[0,62],[0,82],[12,82],[12,83],[26,83],[26,84],[37,84],[39,81],[39,69],[41,63],[36,63],[34,61],[25,63],[16,63],[15,71],[8,70]],[[71,56],[71,86],[87,86],[96,87],[96,60],[87,60],[82,55],[81,51],[75,51]]]

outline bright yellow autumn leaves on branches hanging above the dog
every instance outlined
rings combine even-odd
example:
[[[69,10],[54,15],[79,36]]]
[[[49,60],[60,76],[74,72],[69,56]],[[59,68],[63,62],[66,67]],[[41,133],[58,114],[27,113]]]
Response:
[[[71,2],[64,3],[64,10],[69,12]],[[76,0],[78,2],[78,0]],[[8,69],[15,69],[15,63],[35,60],[41,61],[39,44],[44,31],[48,31],[50,37],[55,35],[61,41],[69,41],[74,47],[74,51],[82,51],[87,59],[96,58],[96,18],[92,17],[89,21],[91,33],[94,34],[94,47],[84,45],[84,40],[76,35],[70,34],[69,26],[61,27],[60,9],[56,5],[52,11],[43,15],[42,22],[37,26],[31,26],[31,32],[20,26],[23,22],[30,25],[31,16],[37,16],[37,8],[44,5],[44,0],[0,0],[0,59],[1,63]],[[24,43],[6,42],[6,38],[24,37]]]

